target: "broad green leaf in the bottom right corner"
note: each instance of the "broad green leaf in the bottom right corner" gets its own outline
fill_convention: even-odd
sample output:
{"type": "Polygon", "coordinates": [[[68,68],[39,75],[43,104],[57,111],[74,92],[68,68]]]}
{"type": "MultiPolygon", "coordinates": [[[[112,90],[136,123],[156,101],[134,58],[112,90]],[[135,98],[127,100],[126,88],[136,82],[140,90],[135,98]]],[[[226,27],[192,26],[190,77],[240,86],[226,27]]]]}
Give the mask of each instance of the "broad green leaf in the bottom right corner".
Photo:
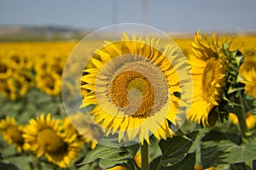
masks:
{"type": "Polygon", "coordinates": [[[236,145],[230,140],[207,141],[201,145],[203,168],[216,167],[220,164],[234,164],[256,159],[256,140],[250,144],[236,145]]]}

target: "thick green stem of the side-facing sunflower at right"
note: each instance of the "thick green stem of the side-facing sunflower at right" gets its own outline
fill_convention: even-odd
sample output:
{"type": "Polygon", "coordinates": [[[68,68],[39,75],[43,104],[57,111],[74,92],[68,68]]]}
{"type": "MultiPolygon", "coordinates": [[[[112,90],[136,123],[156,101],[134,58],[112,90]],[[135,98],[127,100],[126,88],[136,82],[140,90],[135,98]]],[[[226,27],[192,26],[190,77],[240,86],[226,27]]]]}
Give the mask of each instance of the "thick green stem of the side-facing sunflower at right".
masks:
{"type": "Polygon", "coordinates": [[[243,137],[243,142],[247,143],[248,142],[247,140],[249,139],[250,135],[247,127],[246,114],[244,111],[244,105],[243,105],[243,100],[241,95],[239,95],[239,97],[236,98],[236,103],[240,105],[240,106],[237,106],[236,116],[238,118],[241,136],[243,137]]]}

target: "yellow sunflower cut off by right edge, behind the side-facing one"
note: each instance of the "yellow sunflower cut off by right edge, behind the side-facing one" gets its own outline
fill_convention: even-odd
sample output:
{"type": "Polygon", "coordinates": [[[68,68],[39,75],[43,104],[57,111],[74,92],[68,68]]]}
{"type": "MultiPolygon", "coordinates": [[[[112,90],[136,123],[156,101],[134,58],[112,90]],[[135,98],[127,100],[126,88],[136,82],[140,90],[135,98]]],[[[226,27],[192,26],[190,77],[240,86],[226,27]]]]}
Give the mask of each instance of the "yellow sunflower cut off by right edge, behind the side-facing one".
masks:
{"type": "Polygon", "coordinates": [[[247,71],[241,71],[242,82],[245,83],[245,91],[256,99],[256,68],[252,67],[247,71]]]}

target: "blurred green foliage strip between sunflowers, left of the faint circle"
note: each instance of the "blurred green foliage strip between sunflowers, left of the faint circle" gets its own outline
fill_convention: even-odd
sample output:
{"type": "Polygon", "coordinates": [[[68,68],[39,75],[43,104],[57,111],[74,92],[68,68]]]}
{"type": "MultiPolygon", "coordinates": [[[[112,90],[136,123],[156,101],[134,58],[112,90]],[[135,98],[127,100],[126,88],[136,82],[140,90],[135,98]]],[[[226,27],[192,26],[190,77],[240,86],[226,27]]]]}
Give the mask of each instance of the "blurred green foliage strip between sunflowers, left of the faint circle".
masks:
{"type": "Polygon", "coordinates": [[[37,88],[30,89],[26,96],[15,101],[0,95],[0,105],[1,117],[19,117],[19,123],[27,123],[41,113],[50,112],[56,118],[66,116],[61,96],[49,96],[37,88]]]}

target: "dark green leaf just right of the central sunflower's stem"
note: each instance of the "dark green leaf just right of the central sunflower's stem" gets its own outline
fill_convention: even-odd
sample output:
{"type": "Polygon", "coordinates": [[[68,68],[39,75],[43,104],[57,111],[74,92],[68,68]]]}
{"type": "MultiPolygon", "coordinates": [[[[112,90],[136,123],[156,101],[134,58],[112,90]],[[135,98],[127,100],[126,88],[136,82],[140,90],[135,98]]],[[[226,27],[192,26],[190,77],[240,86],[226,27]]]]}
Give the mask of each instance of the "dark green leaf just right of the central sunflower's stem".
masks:
{"type": "MultiPolygon", "coordinates": [[[[190,133],[188,137],[195,139],[198,132],[190,133]]],[[[193,142],[189,139],[184,139],[180,136],[175,136],[172,139],[166,139],[160,141],[160,149],[163,153],[161,165],[164,167],[171,166],[187,155],[193,142]]]]}

